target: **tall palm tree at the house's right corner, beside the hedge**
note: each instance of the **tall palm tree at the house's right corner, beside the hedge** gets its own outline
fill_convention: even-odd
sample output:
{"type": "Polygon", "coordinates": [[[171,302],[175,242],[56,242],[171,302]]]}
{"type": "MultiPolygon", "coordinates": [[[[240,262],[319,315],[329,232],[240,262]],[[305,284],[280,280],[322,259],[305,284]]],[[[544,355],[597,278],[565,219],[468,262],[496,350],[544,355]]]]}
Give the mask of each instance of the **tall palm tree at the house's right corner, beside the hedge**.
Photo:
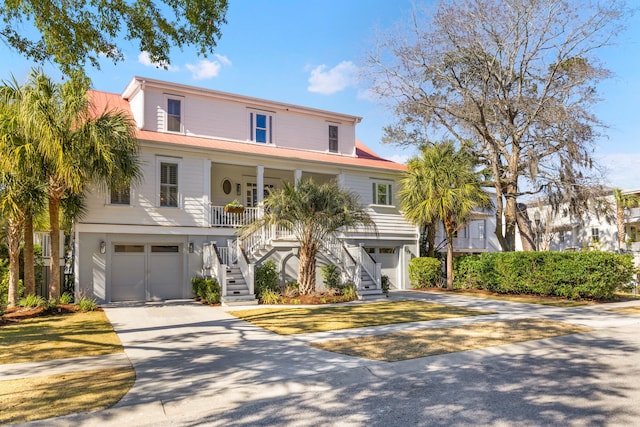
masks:
{"type": "Polygon", "coordinates": [[[453,236],[474,209],[490,205],[481,188],[482,174],[474,159],[453,143],[421,149],[421,156],[407,163],[399,196],[405,218],[416,223],[442,221],[447,239],[447,287],[453,287],[453,236]]]}

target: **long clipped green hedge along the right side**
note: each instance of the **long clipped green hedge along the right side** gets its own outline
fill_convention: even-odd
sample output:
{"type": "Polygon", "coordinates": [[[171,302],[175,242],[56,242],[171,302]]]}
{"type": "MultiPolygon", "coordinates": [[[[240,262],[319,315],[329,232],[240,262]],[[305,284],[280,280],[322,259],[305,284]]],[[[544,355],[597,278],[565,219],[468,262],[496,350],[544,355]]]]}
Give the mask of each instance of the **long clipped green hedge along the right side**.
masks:
{"type": "Polygon", "coordinates": [[[631,255],[611,252],[497,252],[459,257],[456,288],[604,300],[629,282],[631,255]]]}

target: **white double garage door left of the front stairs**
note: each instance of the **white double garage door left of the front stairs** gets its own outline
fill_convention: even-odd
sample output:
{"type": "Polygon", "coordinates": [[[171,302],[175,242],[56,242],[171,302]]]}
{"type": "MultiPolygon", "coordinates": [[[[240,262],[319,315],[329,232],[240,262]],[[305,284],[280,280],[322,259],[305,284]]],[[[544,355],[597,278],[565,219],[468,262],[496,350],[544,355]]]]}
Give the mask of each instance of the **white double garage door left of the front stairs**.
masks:
{"type": "Polygon", "coordinates": [[[114,244],[111,301],[182,298],[182,246],[114,244]]]}

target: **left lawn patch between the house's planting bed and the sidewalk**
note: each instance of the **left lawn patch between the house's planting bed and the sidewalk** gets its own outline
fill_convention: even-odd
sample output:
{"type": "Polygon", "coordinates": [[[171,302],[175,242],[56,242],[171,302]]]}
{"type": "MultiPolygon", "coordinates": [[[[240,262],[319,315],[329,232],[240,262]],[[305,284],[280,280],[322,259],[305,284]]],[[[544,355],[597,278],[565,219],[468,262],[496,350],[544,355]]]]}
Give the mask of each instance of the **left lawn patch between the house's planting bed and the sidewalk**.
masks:
{"type": "Polygon", "coordinates": [[[122,352],[102,311],[42,316],[0,327],[0,364],[122,352]]]}

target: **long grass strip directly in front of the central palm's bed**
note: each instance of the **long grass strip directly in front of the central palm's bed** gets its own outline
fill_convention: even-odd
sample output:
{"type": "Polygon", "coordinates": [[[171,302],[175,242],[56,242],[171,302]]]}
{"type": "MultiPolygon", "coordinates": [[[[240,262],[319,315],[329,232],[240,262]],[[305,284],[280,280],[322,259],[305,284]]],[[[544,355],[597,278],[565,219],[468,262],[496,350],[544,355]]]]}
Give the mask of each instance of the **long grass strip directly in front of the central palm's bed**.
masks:
{"type": "Polygon", "coordinates": [[[425,301],[385,301],[305,308],[264,308],[230,314],[280,335],[363,328],[492,314],[425,301]]]}

